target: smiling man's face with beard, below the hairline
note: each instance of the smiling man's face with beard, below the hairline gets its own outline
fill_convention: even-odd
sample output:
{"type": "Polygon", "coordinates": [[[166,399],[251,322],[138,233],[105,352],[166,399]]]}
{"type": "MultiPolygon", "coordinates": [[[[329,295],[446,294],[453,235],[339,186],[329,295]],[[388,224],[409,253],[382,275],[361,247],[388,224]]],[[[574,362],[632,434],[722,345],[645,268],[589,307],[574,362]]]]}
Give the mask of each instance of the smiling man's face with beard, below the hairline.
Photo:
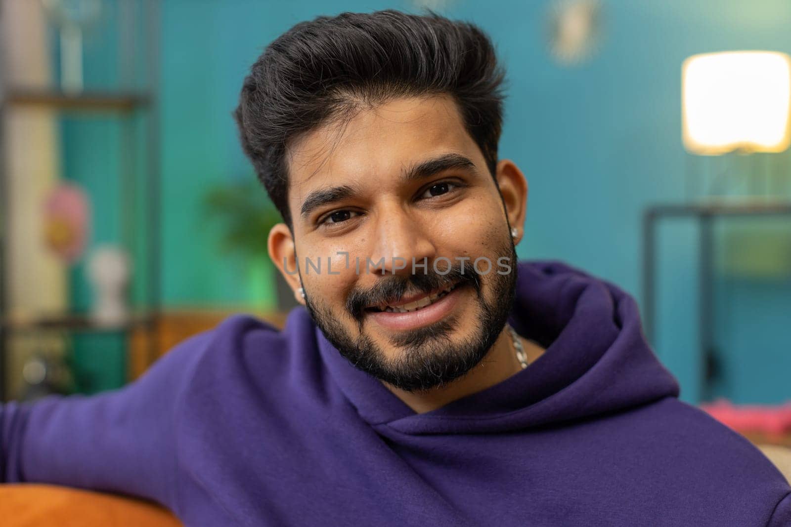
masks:
{"type": "Polygon", "coordinates": [[[475,367],[513,304],[517,257],[452,99],[392,100],[312,130],[287,163],[299,278],[327,340],[401,390],[475,367]]]}

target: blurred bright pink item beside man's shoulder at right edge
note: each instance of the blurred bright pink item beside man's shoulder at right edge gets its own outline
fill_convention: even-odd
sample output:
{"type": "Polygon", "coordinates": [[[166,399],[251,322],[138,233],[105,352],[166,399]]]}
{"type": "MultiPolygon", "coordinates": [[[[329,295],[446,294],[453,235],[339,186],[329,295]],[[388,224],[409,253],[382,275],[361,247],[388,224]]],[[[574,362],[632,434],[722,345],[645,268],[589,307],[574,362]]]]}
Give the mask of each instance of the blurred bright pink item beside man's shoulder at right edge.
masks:
{"type": "Polygon", "coordinates": [[[700,405],[714,419],[737,432],[762,432],[781,439],[791,432],[791,402],[784,405],[732,405],[725,399],[700,405]]]}

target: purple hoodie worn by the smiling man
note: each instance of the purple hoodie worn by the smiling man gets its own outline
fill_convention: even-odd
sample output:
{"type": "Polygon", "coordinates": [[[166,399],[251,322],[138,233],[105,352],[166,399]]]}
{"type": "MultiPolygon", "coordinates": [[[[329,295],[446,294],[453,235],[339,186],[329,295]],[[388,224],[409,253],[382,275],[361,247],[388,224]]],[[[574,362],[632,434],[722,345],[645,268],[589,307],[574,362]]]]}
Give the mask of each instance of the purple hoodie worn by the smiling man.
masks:
{"type": "Polygon", "coordinates": [[[511,323],[547,351],[416,414],[303,308],[246,315],[137,382],[0,410],[0,475],[152,499],[186,525],[791,525],[791,488],[680,402],[634,299],[519,265],[511,323]]]}

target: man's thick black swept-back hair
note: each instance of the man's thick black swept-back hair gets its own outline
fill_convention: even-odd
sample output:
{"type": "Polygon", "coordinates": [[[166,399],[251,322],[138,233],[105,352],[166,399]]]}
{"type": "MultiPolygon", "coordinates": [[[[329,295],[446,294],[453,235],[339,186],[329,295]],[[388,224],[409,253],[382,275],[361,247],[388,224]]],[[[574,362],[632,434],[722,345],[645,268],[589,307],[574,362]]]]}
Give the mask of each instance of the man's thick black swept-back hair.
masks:
{"type": "Polygon", "coordinates": [[[398,97],[452,96],[494,177],[504,77],[489,37],[473,24],[432,12],[341,13],[274,40],[245,77],[233,115],[244,153],[291,227],[286,148],[398,97]]]}

